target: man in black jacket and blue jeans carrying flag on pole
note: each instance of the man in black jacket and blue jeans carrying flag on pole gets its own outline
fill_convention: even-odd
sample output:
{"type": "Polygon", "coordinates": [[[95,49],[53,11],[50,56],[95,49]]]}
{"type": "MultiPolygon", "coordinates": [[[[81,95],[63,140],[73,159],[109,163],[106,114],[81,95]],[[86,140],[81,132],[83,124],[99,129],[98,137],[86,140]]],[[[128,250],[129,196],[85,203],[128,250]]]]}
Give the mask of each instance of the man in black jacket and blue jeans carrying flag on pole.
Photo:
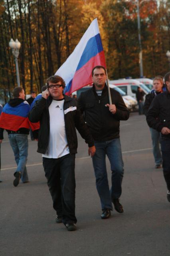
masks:
{"type": "Polygon", "coordinates": [[[119,202],[124,173],[119,125],[120,120],[128,119],[129,112],[121,95],[114,89],[110,89],[113,104],[109,104],[105,67],[94,67],[92,77],[93,87],[81,93],[78,103],[95,140],[96,153],[92,158],[93,167],[103,211],[101,218],[106,219],[111,215],[112,202],[115,210],[123,213],[123,206],[119,202]],[[107,178],[106,155],[111,163],[111,190],[107,178]]]}

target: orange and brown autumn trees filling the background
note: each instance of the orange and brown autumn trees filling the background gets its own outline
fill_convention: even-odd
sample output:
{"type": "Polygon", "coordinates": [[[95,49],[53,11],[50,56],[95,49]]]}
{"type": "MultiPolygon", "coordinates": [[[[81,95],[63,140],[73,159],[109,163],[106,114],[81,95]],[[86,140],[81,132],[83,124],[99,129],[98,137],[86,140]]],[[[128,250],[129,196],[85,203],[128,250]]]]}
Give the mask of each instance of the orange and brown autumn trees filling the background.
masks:
{"type": "MultiPolygon", "coordinates": [[[[139,10],[144,75],[164,75],[169,71],[170,2],[140,0],[139,10]]],[[[21,42],[22,87],[26,93],[40,92],[96,17],[109,78],[139,77],[137,0],[0,0],[0,89],[16,86],[10,38],[21,42]]]]}

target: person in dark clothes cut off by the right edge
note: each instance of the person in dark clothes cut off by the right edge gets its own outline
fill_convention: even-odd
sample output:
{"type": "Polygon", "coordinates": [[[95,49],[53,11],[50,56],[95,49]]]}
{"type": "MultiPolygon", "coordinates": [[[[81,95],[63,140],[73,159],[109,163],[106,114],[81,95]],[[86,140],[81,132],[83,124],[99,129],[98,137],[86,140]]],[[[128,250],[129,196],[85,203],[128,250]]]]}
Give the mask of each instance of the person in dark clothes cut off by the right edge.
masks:
{"type": "Polygon", "coordinates": [[[154,97],[146,121],[150,127],[161,132],[162,167],[170,202],[170,72],[166,73],[164,81],[167,91],[154,97]]]}

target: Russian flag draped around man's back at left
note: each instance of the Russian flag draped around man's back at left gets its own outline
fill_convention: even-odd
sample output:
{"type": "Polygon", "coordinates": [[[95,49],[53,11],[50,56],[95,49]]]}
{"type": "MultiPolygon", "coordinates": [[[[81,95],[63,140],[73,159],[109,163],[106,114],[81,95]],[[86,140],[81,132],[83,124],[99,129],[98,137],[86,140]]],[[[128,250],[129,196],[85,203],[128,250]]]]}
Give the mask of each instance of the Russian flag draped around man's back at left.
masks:
{"type": "Polygon", "coordinates": [[[31,123],[28,119],[30,105],[24,101],[16,107],[11,107],[8,103],[2,109],[0,115],[0,127],[10,131],[18,131],[20,128],[39,129],[39,123],[31,123]]]}

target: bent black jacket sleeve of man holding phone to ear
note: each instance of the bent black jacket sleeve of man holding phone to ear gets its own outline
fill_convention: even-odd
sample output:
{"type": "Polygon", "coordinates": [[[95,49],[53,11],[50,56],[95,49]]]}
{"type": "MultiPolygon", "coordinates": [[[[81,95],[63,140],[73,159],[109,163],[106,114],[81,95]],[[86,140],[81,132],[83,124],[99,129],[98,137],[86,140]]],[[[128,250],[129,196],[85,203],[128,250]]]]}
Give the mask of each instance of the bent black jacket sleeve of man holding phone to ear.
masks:
{"type": "Polygon", "coordinates": [[[37,123],[42,118],[43,111],[46,106],[46,99],[43,97],[36,101],[34,107],[30,110],[30,113],[28,115],[29,120],[32,123],[37,123]]]}

